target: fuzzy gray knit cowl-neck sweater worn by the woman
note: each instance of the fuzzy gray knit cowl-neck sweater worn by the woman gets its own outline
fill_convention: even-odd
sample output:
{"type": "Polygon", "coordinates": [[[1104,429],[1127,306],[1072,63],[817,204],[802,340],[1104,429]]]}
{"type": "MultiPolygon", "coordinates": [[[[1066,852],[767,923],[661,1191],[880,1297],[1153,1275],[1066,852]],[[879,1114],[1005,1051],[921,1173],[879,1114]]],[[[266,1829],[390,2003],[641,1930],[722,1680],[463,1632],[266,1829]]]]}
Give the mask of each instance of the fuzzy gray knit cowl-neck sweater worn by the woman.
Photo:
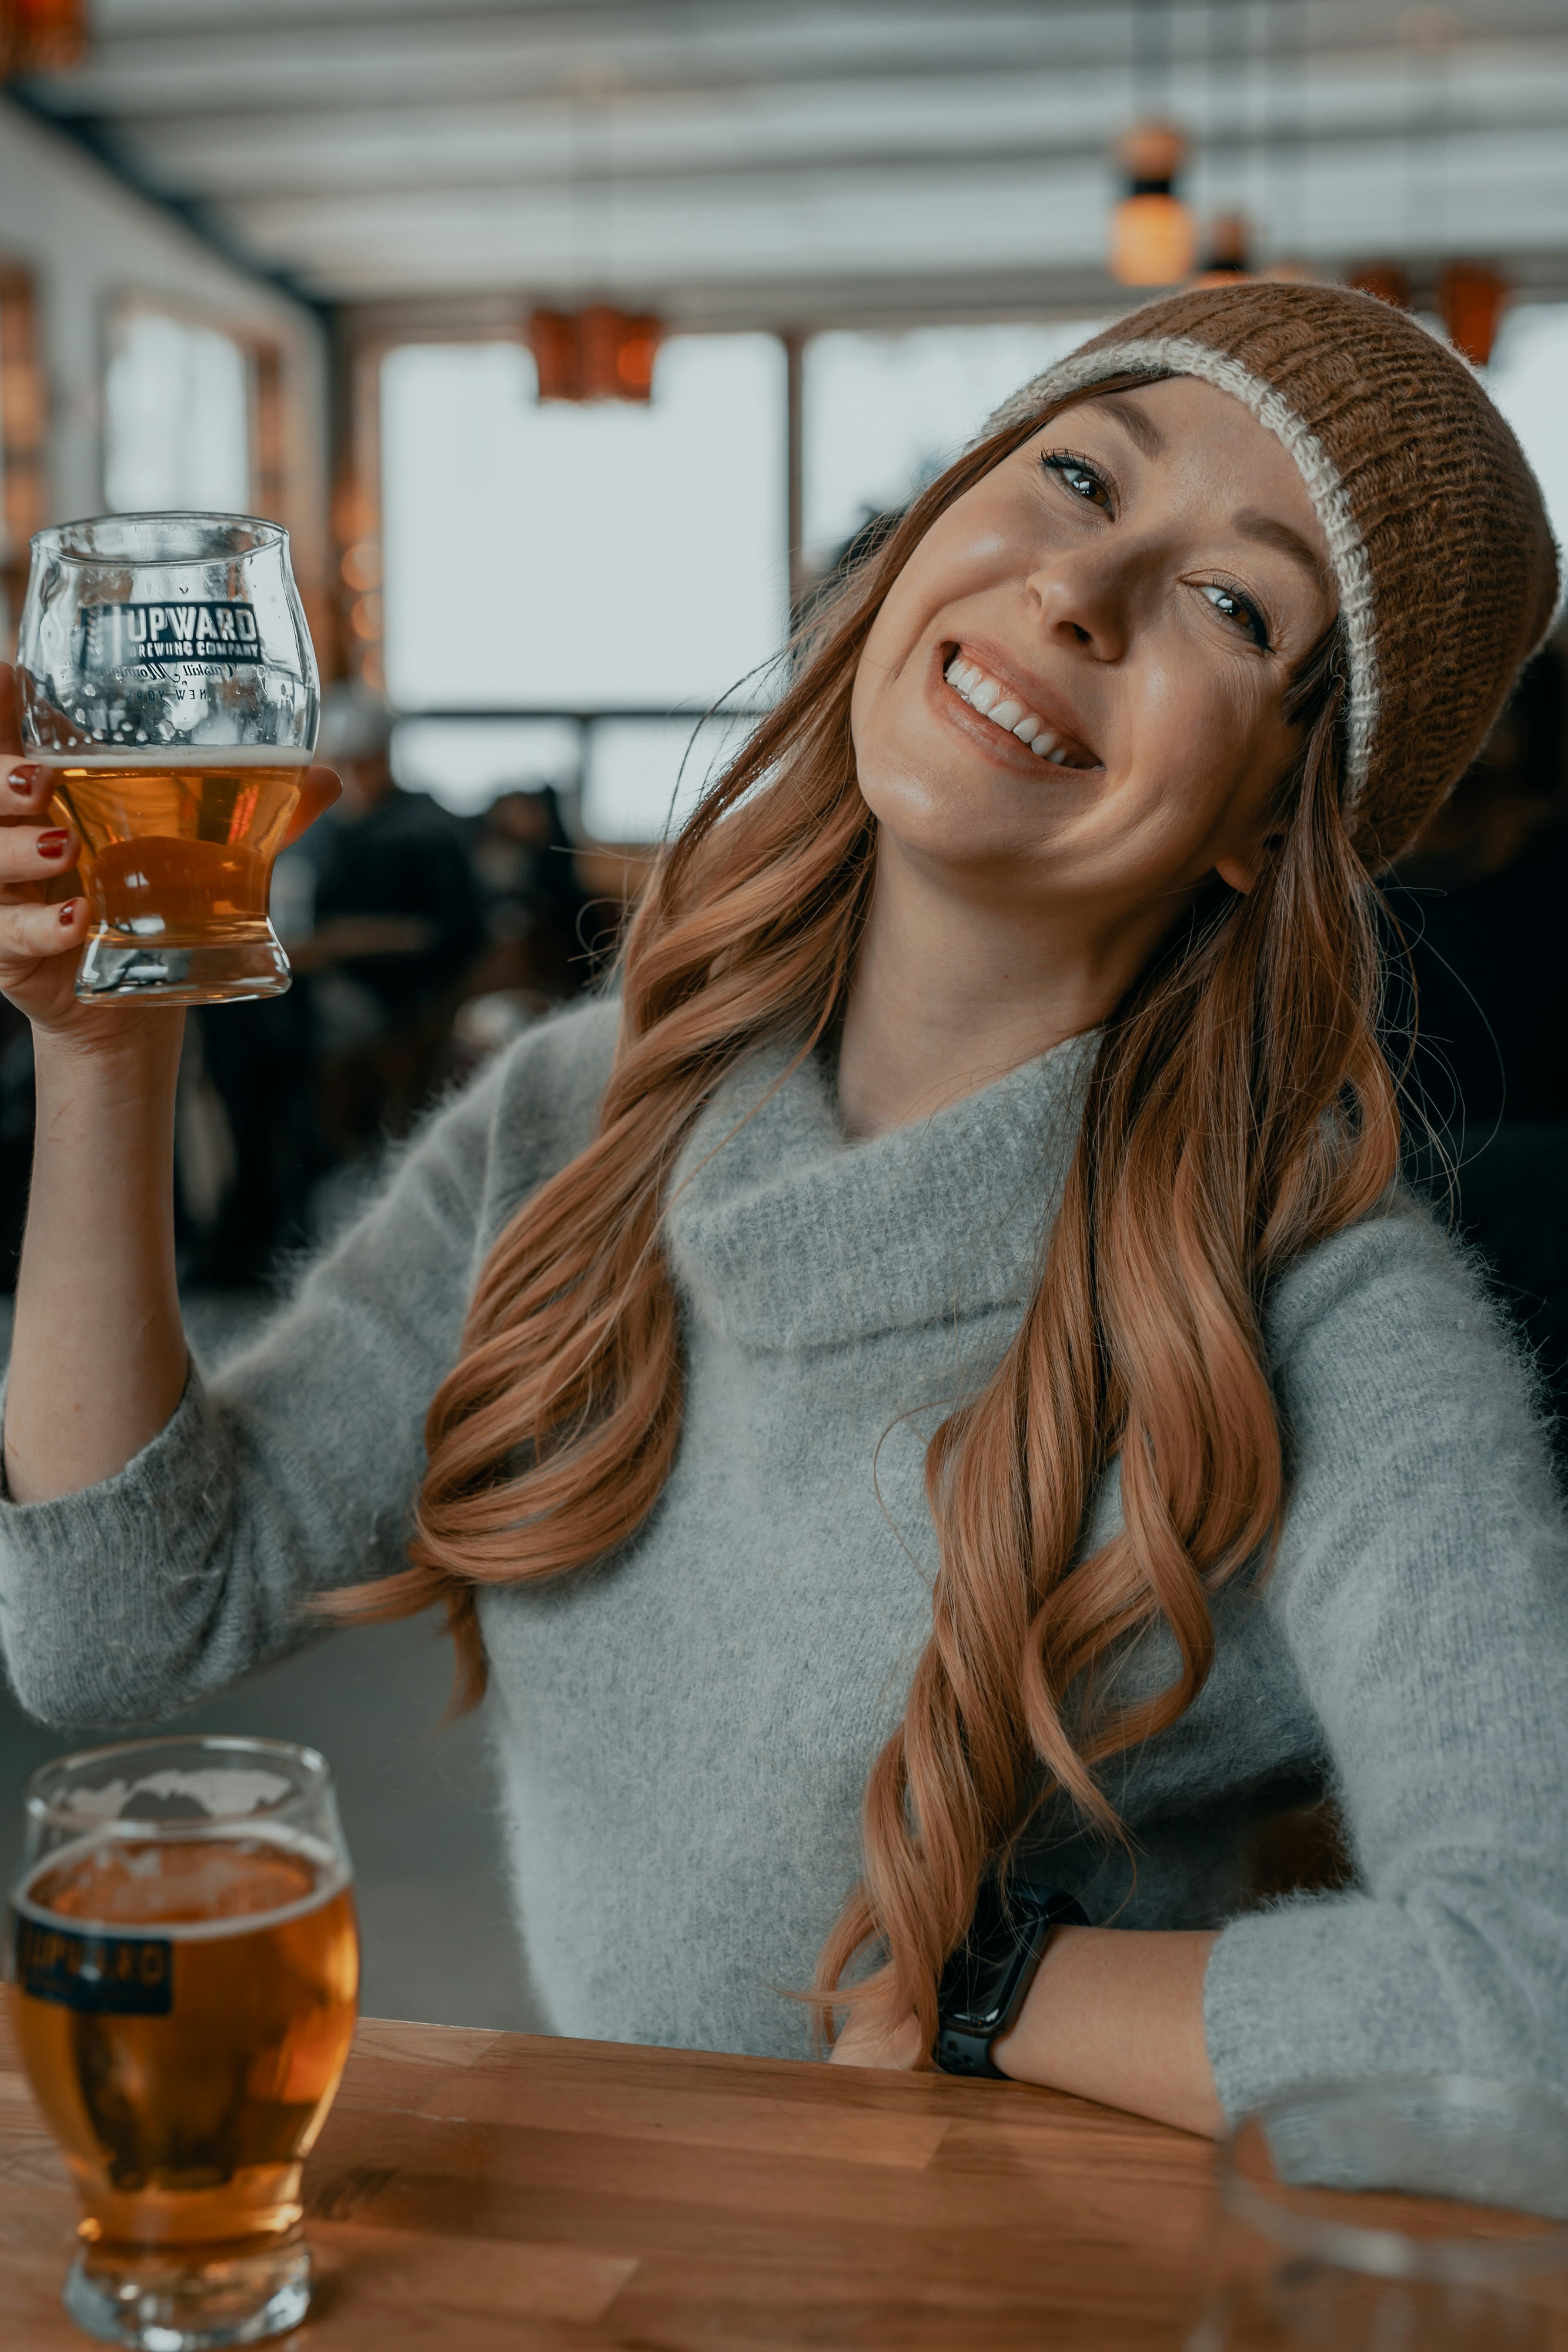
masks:
{"type": "MultiPolygon", "coordinates": [[[[614,1018],[498,1058],[127,1470],[0,1510],[24,1705],[148,1719],[296,1642],[301,1595],[397,1566],[475,1270],[588,1141],[614,1018]]],[[[668,1218],[670,1484],[618,1557],[482,1599],[517,1910],[562,2032],[806,2053],[788,1987],[856,1877],[929,1630],[924,1439],[1016,1329],[1088,1051],[856,1145],[818,1065],[766,1096],[783,1056],[703,1115],[668,1218]]],[[[1229,1922],[1206,1987],[1229,2112],[1382,2067],[1568,2089],[1568,1573],[1526,1385],[1410,1207],[1300,1261],[1269,1345],[1293,1458],[1272,1573],[1218,1604],[1201,1698],[1117,1769],[1135,1870],[1060,1818],[1039,1867],[1100,1922],[1229,1922]],[[1324,1783],[1356,1884],[1246,1912],[1258,1806],[1324,1783]]],[[[1114,1512],[1112,1479],[1098,1534],[1114,1512]]],[[[1126,1691],[1171,1663],[1145,1637],[1126,1691]]]]}

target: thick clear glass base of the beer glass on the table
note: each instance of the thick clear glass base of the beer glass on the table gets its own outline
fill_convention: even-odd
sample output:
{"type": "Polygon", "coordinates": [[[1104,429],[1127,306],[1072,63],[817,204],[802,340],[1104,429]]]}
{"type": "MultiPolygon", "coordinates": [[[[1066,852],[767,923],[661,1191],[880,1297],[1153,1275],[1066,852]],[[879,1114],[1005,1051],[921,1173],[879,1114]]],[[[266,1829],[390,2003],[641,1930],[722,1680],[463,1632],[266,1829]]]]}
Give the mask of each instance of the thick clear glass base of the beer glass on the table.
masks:
{"type": "Polygon", "coordinates": [[[310,2307],[310,2253],[292,2232],[256,2251],[87,2246],[66,2277],[66,2310],[99,2343],[132,2352],[221,2352],[287,2336],[310,2307]]]}

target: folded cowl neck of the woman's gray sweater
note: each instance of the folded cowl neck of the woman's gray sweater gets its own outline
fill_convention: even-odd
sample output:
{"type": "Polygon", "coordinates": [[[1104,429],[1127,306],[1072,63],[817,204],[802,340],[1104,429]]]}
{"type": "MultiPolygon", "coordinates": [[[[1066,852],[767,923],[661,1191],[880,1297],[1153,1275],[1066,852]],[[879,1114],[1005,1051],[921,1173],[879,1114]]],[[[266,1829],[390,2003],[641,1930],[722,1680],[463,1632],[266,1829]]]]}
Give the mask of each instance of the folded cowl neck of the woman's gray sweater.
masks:
{"type": "Polygon", "coordinates": [[[665,1247],[743,1348],[823,1348],[1016,1305],[1060,1204],[1098,1030],[926,1120],[853,1141],[837,1063],[769,1047],[719,1084],[675,1169],[665,1247]]]}

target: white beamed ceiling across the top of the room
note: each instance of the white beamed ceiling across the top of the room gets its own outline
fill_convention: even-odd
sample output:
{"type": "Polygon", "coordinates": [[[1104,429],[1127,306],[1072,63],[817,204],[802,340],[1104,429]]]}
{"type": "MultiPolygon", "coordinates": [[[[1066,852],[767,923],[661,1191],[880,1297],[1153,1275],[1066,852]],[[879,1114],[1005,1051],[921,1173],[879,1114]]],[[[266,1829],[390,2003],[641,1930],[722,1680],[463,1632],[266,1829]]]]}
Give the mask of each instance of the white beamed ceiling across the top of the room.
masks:
{"type": "Polygon", "coordinates": [[[317,301],[689,322],[1110,301],[1107,146],[1319,266],[1568,292],[1568,0],[96,0],[24,87],[317,301]]]}

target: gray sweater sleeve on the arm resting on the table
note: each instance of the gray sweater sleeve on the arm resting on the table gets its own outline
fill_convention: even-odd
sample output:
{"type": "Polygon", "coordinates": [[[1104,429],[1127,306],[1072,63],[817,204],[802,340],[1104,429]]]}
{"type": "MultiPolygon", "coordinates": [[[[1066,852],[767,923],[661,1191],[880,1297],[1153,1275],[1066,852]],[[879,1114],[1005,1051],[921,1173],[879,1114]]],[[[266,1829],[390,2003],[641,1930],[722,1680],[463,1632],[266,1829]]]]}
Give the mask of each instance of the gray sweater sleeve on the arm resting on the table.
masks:
{"type": "Polygon", "coordinates": [[[1410,1209],[1305,1258],[1272,1338],[1293,1486],[1260,1606],[1324,1729],[1356,1879],[1220,1933],[1220,2100],[1394,2070],[1563,2091],[1568,1548],[1528,1378],[1410,1209]]]}

